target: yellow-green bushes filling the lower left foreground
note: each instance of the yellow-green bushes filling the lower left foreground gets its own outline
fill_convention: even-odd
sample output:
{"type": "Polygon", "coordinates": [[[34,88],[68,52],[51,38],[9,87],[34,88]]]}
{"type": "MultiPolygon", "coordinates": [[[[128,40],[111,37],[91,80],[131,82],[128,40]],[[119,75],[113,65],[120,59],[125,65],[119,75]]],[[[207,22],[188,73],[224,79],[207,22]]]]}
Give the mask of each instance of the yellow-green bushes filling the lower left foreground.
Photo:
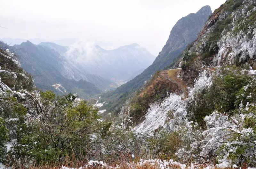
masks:
{"type": "Polygon", "coordinates": [[[104,138],[111,123],[99,122],[98,109],[85,101],[75,103],[75,99],[76,95],[56,98],[51,91],[41,92],[40,98],[36,98],[40,109],[35,117],[31,116],[34,113],[27,114],[39,107],[35,100],[29,103],[28,109],[15,97],[4,100],[1,116],[8,121],[6,127],[13,140],[5,163],[38,165],[61,162],[65,157],[85,158],[90,154],[94,133],[101,133],[100,138],[104,138]]]}

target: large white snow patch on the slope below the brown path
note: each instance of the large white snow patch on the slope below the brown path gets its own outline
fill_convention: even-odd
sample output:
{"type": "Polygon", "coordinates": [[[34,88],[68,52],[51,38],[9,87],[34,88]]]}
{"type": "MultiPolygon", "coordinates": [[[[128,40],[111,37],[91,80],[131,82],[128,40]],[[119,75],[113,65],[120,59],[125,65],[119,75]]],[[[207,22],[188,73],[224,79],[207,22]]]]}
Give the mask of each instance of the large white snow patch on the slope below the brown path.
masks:
{"type": "Polygon", "coordinates": [[[177,130],[179,128],[177,126],[188,123],[186,118],[187,104],[194,98],[197,91],[209,88],[212,85],[211,75],[207,69],[204,69],[195,79],[195,85],[190,89],[189,97],[185,100],[182,99],[182,95],[170,94],[162,103],[155,102],[151,104],[145,120],[132,130],[139,133],[152,133],[161,126],[169,130],[177,130]],[[173,114],[172,119],[168,119],[168,113],[173,114]]]}

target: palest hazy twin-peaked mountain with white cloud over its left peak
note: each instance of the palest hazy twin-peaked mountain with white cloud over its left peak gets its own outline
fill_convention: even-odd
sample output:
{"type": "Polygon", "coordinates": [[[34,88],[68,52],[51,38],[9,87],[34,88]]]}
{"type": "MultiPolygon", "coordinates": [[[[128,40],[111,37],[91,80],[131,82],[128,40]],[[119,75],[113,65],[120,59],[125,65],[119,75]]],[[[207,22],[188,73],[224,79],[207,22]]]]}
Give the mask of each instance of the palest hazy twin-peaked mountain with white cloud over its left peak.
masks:
{"type": "MultiPolygon", "coordinates": [[[[89,42],[79,42],[66,52],[70,64],[88,74],[125,81],[142,68],[148,67],[155,57],[134,43],[113,50],[105,50],[89,42]]],[[[136,74],[137,75],[137,74],[136,74]]]]}

